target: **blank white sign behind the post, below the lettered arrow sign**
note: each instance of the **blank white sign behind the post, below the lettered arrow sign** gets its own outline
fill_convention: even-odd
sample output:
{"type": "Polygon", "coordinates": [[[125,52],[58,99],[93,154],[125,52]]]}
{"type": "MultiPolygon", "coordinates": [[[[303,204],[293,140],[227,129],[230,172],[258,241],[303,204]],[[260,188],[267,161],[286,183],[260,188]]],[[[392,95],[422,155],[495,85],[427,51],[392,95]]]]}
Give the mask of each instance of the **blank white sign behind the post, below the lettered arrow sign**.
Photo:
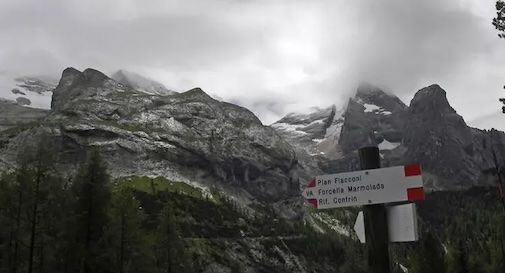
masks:
{"type": "MultiPolygon", "coordinates": [[[[412,242],[419,239],[417,213],[414,203],[386,207],[390,242],[412,242]]],[[[365,243],[363,212],[358,213],[354,231],[361,243],[365,243]]]]}

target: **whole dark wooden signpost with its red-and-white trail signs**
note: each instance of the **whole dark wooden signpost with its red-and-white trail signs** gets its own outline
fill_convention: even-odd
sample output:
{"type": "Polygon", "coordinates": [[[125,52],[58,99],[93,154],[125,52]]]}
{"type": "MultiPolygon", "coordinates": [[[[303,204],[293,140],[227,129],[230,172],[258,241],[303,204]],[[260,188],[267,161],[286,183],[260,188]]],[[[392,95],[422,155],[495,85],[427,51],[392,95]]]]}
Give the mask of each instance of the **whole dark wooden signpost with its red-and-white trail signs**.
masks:
{"type": "Polygon", "coordinates": [[[389,242],[418,239],[415,206],[408,202],[425,198],[421,166],[380,168],[377,147],[361,148],[359,157],[361,171],[316,176],[303,196],[317,209],[364,206],[354,229],[366,242],[372,272],[389,273],[389,242]],[[384,206],[398,202],[404,204],[384,206]]]}

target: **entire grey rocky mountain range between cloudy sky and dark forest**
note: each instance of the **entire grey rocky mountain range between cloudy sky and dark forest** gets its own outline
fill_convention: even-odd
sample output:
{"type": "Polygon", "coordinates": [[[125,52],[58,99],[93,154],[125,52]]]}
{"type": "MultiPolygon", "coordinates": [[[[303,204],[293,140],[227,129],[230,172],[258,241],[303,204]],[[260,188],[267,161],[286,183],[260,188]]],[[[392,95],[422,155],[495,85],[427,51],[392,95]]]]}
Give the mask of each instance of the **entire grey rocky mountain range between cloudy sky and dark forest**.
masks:
{"type": "Polygon", "coordinates": [[[356,151],[366,145],[379,146],[383,166],[422,163],[434,189],[489,183],[487,173],[494,166],[490,148],[505,145],[501,132],[468,127],[438,85],[421,89],[407,106],[363,84],[345,108],[290,114],[271,127],[199,88],[151,93],[94,69],[67,68],[48,92],[53,94],[50,112],[4,107],[5,113],[24,114],[16,122],[5,114],[2,129],[19,122],[40,124],[2,136],[3,169],[15,165],[23,142],[49,134],[66,164],[77,164],[90,147],[99,146],[117,176],[214,181],[209,185],[245,188],[249,199],[281,200],[297,196],[298,183],[312,175],[357,169],[356,151]]]}

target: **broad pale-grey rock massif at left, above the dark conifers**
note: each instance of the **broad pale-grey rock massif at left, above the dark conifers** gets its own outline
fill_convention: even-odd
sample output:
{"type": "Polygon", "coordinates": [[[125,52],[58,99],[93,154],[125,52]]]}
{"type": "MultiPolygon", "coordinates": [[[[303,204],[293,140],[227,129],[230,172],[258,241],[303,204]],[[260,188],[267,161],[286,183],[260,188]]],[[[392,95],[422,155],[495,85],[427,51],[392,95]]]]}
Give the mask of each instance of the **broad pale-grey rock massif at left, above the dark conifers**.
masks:
{"type": "Polygon", "coordinates": [[[249,110],[214,100],[200,88],[146,94],[94,69],[67,68],[51,106],[40,126],[0,147],[3,162],[13,163],[21,142],[44,132],[67,168],[98,146],[115,176],[224,185],[264,201],[298,195],[292,147],[249,110]]]}

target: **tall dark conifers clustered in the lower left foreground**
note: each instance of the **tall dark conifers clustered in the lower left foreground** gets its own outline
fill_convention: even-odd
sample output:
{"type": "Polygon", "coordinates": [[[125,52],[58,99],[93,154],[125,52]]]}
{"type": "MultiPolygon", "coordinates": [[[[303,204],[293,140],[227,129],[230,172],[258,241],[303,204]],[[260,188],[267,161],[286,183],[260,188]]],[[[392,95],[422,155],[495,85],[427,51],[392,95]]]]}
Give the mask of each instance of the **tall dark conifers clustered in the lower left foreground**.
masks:
{"type": "Polygon", "coordinates": [[[113,188],[97,149],[60,175],[48,145],[0,177],[0,272],[192,272],[170,202],[154,229],[129,188],[113,188]]]}

